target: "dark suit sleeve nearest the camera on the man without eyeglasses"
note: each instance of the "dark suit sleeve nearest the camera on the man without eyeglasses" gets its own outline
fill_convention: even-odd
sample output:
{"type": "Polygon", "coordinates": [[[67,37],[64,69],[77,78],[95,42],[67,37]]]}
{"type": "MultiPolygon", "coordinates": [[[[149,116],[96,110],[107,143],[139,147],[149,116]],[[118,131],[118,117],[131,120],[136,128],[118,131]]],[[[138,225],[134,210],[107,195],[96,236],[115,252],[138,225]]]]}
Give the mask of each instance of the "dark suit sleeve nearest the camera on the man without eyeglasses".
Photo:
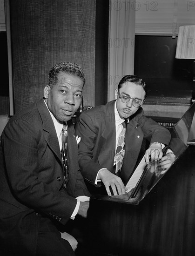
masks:
{"type": "Polygon", "coordinates": [[[65,224],[77,200],[61,189],[55,175],[60,164],[55,170],[55,156],[48,147],[41,148],[39,133],[30,121],[8,123],[2,135],[8,180],[19,202],[65,224]]]}

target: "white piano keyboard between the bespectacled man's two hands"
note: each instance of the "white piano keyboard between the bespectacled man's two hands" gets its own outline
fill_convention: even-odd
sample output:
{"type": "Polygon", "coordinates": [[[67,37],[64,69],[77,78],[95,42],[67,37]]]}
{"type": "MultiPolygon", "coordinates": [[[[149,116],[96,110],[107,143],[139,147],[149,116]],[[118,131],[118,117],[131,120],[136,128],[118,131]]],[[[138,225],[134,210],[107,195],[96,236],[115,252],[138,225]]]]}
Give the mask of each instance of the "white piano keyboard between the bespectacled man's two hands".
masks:
{"type": "Polygon", "coordinates": [[[131,191],[131,189],[134,189],[137,182],[139,182],[141,175],[144,171],[144,168],[146,167],[147,163],[145,162],[145,158],[143,156],[143,158],[141,159],[140,163],[138,164],[137,168],[134,170],[133,175],[131,176],[131,178],[129,179],[126,188],[128,189],[126,191],[126,193],[128,193],[129,191],[131,191]]]}

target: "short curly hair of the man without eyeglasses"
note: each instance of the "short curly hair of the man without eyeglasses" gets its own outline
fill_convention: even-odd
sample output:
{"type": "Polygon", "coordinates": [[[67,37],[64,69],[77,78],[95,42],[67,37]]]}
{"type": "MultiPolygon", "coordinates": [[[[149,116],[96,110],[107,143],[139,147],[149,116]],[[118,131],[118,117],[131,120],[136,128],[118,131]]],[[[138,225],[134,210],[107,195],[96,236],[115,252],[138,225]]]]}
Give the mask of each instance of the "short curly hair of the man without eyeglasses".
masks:
{"type": "Polygon", "coordinates": [[[78,76],[83,81],[83,85],[85,84],[84,72],[80,65],[75,64],[73,62],[60,62],[55,64],[55,66],[49,70],[50,87],[53,87],[57,83],[58,74],[60,72],[78,76]]]}

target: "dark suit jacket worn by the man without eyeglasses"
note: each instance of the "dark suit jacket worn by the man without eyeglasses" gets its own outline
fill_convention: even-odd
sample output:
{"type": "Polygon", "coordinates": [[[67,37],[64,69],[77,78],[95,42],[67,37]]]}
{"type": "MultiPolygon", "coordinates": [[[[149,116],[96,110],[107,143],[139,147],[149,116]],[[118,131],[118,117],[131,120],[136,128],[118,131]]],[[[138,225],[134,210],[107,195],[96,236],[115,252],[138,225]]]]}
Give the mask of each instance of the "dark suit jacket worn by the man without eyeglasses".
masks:
{"type": "Polygon", "coordinates": [[[2,133],[0,238],[34,255],[40,214],[66,224],[79,195],[89,195],[77,163],[74,127],[68,123],[69,178],[64,189],[61,152],[44,100],[14,115],[2,133]],[[36,214],[35,214],[36,213],[36,214]]]}

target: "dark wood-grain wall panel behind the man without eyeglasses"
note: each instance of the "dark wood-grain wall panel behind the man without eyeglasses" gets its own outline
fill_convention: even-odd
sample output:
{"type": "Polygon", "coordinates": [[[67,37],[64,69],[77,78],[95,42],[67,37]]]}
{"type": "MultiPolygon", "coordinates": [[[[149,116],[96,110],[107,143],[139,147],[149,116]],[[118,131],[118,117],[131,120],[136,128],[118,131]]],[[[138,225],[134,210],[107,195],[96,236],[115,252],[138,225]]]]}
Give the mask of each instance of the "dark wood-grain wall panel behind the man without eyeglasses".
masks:
{"type": "Polygon", "coordinates": [[[94,106],[95,0],[10,0],[10,14],[15,113],[43,96],[61,61],[81,65],[83,101],[94,106]]]}

